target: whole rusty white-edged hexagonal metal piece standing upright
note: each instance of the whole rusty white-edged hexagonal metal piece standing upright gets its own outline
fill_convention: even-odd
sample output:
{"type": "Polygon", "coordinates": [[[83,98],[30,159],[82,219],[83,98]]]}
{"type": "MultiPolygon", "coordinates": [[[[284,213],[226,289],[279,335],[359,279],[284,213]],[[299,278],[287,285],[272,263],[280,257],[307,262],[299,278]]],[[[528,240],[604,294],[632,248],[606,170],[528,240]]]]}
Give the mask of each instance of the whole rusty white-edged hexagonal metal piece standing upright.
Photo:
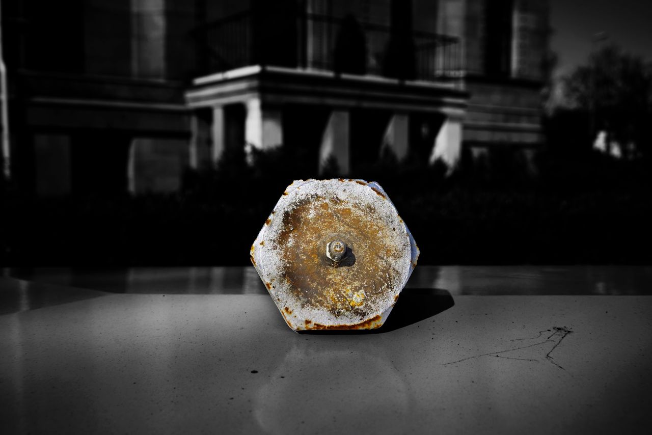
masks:
{"type": "Polygon", "coordinates": [[[250,256],[292,329],[375,329],[419,248],[377,183],[302,180],[283,192],[250,256]]]}

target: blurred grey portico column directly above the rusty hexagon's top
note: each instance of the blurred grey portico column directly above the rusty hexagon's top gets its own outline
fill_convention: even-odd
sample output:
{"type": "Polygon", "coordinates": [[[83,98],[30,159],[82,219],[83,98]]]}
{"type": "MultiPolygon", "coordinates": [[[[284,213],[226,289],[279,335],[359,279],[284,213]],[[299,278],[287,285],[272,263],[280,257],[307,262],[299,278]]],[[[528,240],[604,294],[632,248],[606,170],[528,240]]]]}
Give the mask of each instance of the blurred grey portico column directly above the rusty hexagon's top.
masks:
{"type": "Polygon", "coordinates": [[[349,132],[350,114],[346,110],[333,110],[319,147],[319,173],[328,168],[331,161],[336,162],[341,175],[349,173],[349,132]]]}

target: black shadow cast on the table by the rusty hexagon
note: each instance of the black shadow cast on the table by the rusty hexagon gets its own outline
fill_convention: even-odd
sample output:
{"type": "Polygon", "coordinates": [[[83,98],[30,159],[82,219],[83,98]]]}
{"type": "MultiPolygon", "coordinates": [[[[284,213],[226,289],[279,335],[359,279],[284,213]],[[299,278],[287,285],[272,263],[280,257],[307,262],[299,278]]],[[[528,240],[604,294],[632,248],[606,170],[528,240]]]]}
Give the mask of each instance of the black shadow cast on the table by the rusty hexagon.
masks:
{"type": "Polygon", "coordinates": [[[378,329],[353,329],[351,331],[299,331],[306,335],[361,335],[383,334],[421,322],[452,308],[455,302],[448,290],[439,288],[406,288],[385,324],[378,329]]]}

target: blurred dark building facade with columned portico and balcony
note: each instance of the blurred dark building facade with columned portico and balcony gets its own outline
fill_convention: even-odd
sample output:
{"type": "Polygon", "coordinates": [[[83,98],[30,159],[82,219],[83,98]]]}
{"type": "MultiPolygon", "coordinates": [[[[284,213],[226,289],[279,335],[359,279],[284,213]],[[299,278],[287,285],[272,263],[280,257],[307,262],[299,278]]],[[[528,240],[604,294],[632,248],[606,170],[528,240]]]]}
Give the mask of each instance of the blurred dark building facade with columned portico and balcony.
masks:
{"type": "Polygon", "coordinates": [[[542,142],[548,0],[11,0],[12,176],[172,192],[229,149],[340,173],[542,142]]]}

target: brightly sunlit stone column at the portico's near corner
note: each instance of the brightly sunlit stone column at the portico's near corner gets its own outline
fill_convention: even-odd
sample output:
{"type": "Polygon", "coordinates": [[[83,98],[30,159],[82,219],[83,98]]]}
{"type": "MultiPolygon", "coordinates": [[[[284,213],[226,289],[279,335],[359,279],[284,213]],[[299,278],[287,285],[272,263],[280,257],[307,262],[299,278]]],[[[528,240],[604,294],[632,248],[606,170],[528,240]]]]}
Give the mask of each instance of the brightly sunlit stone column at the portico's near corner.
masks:
{"type": "Polygon", "coordinates": [[[283,145],[283,115],[280,110],[263,108],[260,98],[246,102],[244,139],[249,146],[269,149],[283,145]]]}

